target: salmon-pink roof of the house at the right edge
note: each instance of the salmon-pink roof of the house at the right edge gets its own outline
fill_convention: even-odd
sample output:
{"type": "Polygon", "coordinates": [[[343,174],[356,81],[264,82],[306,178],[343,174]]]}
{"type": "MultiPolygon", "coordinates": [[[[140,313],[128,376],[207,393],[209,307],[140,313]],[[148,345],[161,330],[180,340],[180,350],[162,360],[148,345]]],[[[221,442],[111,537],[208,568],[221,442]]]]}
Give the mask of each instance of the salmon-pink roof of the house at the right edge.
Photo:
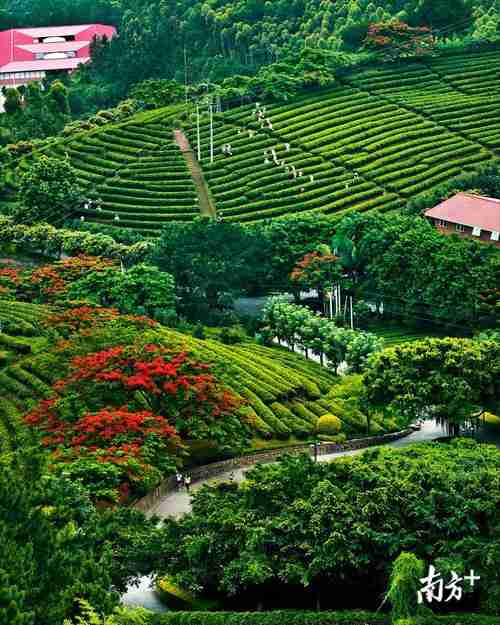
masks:
{"type": "Polygon", "coordinates": [[[457,193],[434,208],[426,210],[425,215],[453,224],[500,232],[500,200],[496,198],[457,193]]]}

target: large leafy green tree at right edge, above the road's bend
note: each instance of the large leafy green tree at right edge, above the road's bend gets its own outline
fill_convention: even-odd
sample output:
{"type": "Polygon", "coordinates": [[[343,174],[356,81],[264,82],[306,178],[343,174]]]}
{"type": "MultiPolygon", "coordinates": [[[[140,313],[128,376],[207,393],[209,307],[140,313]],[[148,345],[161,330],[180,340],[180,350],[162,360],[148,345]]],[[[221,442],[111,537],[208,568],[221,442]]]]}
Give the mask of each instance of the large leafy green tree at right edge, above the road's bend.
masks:
{"type": "Polygon", "coordinates": [[[500,344],[447,338],[385,349],[373,358],[365,386],[371,404],[435,416],[457,432],[474,413],[498,408],[500,344]]]}

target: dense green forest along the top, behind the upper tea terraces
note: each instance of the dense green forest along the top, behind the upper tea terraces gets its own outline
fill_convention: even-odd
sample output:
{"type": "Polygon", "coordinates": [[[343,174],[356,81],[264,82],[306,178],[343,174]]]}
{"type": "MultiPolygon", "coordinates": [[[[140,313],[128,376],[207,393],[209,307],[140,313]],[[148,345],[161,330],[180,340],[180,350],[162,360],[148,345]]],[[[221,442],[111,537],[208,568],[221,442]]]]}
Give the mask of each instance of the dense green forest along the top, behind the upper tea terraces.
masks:
{"type": "Polygon", "coordinates": [[[253,73],[304,47],[357,53],[370,24],[398,20],[437,38],[495,39],[498,0],[0,0],[0,28],[104,22],[119,37],[95,51],[93,79],[123,96],[134,82],[190,83],[253,73]]]}

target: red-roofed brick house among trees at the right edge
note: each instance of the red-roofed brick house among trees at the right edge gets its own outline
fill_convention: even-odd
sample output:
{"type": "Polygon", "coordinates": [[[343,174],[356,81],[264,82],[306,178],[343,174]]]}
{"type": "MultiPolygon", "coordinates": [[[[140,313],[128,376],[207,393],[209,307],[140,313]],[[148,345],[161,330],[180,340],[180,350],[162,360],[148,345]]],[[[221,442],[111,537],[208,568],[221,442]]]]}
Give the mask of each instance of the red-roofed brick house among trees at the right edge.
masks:
{"type": "Polygon", "coordinates": [[[424,214],[443,234],[457,234],[500,247],[500,200],[496,198],[457,193],[424,214]]]}

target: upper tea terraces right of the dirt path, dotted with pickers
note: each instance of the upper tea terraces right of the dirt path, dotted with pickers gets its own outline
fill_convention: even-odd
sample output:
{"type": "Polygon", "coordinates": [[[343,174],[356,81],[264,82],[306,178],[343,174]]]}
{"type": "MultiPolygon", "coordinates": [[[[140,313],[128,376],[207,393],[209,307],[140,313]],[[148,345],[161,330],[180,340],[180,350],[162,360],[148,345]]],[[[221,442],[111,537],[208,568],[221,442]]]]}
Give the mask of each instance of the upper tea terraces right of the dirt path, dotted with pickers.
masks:
{"type": "Polygon", "coordinates": [[[252,222],[301,211],[388,211],[498,159],[499,70],[498,51],[372,69],[267,106],[264,122],[253,106],[218,116],[213,166],[206,124],[202,147],[219,214],[252,222]],[[232,155],[221,152],[224,144],[232,155]]]}

